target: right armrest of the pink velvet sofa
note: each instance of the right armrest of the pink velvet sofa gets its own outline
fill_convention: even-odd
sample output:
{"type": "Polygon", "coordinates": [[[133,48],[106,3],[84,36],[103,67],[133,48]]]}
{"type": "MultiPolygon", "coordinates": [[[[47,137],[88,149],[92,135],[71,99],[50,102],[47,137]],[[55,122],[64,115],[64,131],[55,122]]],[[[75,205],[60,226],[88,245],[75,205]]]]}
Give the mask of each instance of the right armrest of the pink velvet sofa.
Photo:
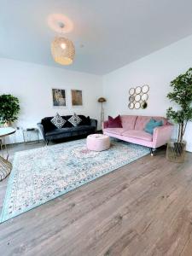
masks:
{"type": "Polygon", "coordinates": [[[172,137],[173,125],[163,125],[154,128],[153,148],[165,145],[172,137]]]}

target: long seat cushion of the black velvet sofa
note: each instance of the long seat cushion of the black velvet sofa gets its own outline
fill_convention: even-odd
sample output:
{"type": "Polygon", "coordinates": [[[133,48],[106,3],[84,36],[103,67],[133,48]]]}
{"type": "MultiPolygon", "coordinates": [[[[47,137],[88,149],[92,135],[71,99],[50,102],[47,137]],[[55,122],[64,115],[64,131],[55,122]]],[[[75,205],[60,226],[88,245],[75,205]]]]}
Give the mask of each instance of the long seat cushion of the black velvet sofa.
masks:
{"type": "Polygon", "coordinates": [[[75,126],[75,127],[67,127],[67,128],[61,128],[61,129],[55,129],[52,131],[48,131],[45,135],[46,136],[52,136],[52,135],[58,135],[61,133],[69,133],[69,132],[75,132],[75,131],[92,131],[94,130],[95,127],[94,126],[90,126],[90,125],[79,125],[79,126],[75,126]]]}

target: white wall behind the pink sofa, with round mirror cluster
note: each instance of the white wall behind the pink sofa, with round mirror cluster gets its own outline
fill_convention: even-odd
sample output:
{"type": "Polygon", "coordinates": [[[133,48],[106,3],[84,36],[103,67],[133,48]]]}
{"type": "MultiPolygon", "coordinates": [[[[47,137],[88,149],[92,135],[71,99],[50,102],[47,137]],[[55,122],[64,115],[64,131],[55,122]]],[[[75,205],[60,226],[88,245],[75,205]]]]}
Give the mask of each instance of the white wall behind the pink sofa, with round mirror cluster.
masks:
{"type": "MultiPolygon", "coordinates": [[[[119,113],[166,116],[166,109],[172,105],[166,99],[170,81],[189,67],[192,67],[192,36],[108,73],[103,77],[104,96],[108,100],[104,106],[106,116],[119,113]],[[129,109],[129,89],[143,84],[150,87],[148,108],[129,109]]],[[[187,127],[185,139],[187,149],[192,151],[192,123],[187,127]]]]}

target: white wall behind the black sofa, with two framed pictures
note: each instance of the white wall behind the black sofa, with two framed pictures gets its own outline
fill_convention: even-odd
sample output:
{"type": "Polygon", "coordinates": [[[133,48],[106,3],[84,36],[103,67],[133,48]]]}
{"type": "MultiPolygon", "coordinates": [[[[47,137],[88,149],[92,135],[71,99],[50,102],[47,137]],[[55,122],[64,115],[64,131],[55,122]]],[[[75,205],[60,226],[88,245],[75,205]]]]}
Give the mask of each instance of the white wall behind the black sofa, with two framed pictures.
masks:
{"type": "MultiPolygon", "coordinates": [[[[20,116],[15,125],[36,127],[46,116],[82,113],[100,118],[101,106],[96,101],[102,96],[102,77],[88,73],[47,67],[22,61],[0,59],[0,94],[12,94],[20,99],[20,116]],[[51,88],[67,89],[67,108],[53,108],[51,88]],[[83,90],[83,108],[73,108],[71,89],[83,90]]],[[[99,122],[98,122],[99,123],[99,122]]],[[[20,141],[17,131],[17,142],[20,141]]]]}

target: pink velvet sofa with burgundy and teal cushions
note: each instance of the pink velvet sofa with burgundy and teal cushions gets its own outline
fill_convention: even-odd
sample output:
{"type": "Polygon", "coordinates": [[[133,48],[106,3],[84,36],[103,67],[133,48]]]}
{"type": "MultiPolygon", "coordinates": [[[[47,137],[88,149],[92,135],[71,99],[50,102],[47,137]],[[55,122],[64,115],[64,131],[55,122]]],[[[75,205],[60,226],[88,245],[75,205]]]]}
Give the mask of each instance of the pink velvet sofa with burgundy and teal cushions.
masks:
{"type": "Polygon", "coordinates": [[[167,143],[172,136],[173,125],[164,117],[121,115],[123,128],[108,128],[108,121],[102,123],[103,134],[109,137],[115,137],[129,143],[136,143],[150,148],[153,155],[153,148],[159,148],[167,143]],[[162,120],[163,126],[154,128],[154,134],[151,135],[144,131],[145,125],[150,119],[162,120]]]}

